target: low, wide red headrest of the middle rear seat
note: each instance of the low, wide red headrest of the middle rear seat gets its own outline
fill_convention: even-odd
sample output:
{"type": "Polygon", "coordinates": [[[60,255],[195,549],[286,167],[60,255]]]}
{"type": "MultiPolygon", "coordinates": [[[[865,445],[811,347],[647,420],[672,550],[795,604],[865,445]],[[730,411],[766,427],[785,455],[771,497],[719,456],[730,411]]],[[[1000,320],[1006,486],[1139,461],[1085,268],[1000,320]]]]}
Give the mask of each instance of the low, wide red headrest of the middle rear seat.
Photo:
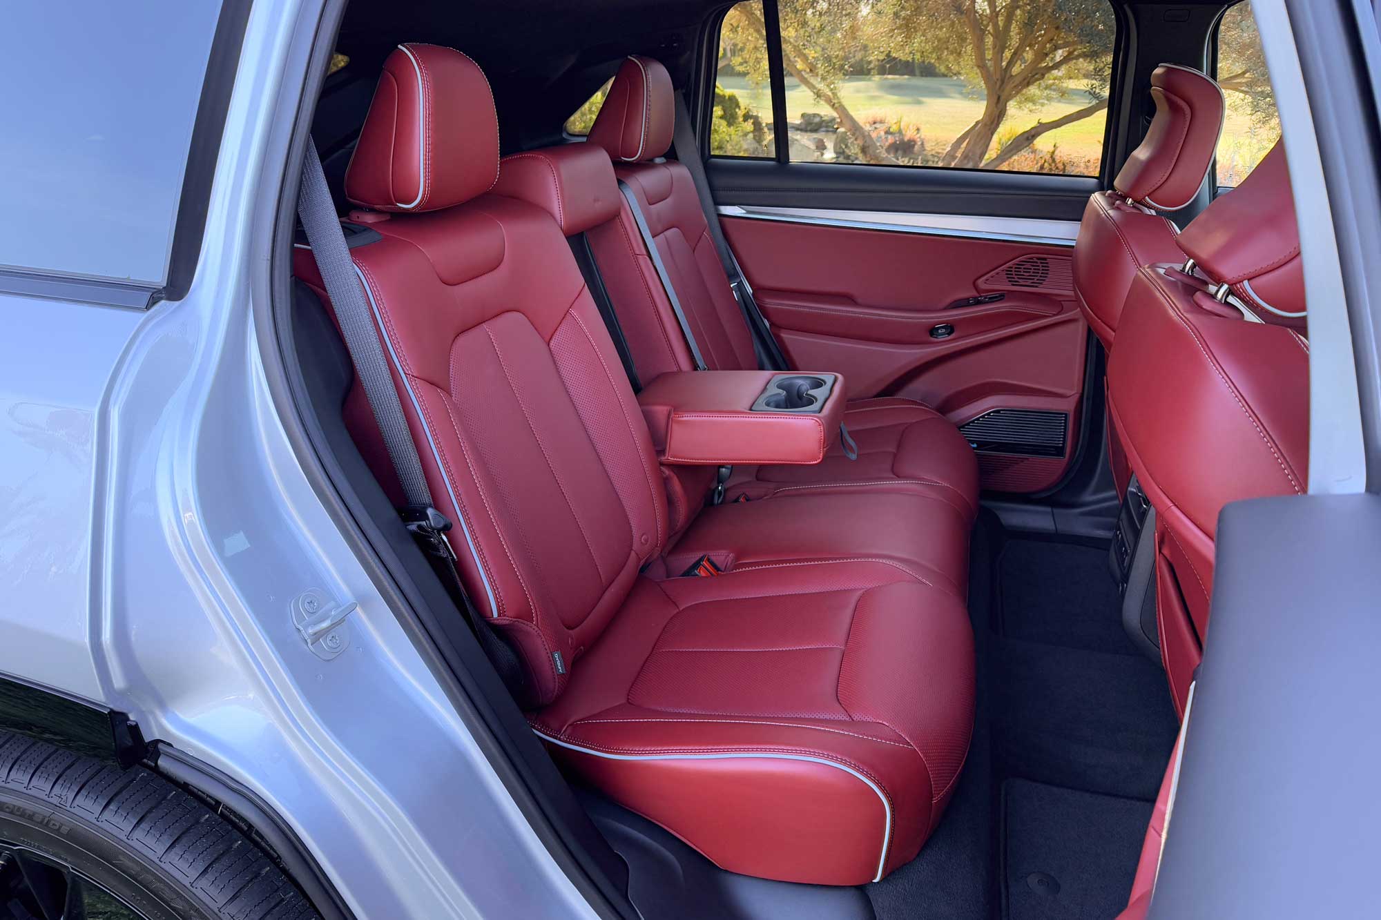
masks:
{"type": "Polygon", "coordinates": [[[566,236],[619,214],[619,180],[603,148],[566,144],[505,156],[494,192],[544,209],[566,236]]]}

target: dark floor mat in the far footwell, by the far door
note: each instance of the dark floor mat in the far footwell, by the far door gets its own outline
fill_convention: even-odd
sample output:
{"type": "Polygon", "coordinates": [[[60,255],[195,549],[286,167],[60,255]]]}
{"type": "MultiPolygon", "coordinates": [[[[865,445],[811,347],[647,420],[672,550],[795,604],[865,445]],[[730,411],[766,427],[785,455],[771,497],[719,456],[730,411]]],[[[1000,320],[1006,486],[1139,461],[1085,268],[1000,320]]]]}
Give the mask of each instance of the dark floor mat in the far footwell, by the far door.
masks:
{"type": "Polygon", "coordinates": [[[1003,633],[1008,638],[1139,653],[1121,626],[1121,595],[1108,571],[1106,548],[1010,540],[1000,573],[1003,633]]]}

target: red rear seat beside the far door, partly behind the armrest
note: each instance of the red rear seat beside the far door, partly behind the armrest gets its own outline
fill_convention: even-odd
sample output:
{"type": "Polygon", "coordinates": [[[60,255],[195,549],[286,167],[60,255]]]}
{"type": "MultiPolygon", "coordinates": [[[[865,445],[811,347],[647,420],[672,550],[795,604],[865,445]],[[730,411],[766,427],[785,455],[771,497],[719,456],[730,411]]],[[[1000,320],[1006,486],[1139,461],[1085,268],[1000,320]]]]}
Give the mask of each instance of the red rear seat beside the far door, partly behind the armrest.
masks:
{"type": "MultiPolygon", "coordinates": [[[[681,163],[663,160],[674,119],[666,68],[631,57],[615,76],[588,142],[609,152],[619,178],[637,195],[707,367],[753,369],[753,337],[710,239],[695,181],[681,163]]],[[[628,207],[620,207],[616,221],[591,228],[588,239],[644,380],[693,369],[628,207]]],[[[735,486],[762,497],[900,481],[961,504],[969,517],[976,512],[978,461],[947,419],[911,399],[880,398],[852,402],[845,424],[858,442],[858,460],[836,448],[818,466],[740,470],[735,486]]]]}

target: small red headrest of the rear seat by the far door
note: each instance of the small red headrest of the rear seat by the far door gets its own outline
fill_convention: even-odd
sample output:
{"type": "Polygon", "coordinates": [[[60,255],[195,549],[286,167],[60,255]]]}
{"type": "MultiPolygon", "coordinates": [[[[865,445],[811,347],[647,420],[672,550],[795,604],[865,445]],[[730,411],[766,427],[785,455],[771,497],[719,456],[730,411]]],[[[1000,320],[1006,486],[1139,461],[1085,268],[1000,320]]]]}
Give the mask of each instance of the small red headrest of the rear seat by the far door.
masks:
{"type": "Polygon", "coordinates": [[[588,140],[624,163],[655,160],[671,149],[675,116],[667,69],[635,54],[615,75],[588,140]]]}

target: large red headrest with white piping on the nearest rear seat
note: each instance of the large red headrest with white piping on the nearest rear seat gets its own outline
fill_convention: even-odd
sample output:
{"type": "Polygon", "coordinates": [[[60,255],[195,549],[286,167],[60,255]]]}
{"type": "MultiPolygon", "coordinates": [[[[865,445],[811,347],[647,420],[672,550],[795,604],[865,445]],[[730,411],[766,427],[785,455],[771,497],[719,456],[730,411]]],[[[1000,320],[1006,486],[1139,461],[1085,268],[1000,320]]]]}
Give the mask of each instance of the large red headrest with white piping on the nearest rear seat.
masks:
{"type": "Polygon", "coordinates": [[[483,72],[454,48],[398,46],[345,170],[345,196],[380,211],[435,211],[483,195],[496,178],[499,117],[483,72]]]}

